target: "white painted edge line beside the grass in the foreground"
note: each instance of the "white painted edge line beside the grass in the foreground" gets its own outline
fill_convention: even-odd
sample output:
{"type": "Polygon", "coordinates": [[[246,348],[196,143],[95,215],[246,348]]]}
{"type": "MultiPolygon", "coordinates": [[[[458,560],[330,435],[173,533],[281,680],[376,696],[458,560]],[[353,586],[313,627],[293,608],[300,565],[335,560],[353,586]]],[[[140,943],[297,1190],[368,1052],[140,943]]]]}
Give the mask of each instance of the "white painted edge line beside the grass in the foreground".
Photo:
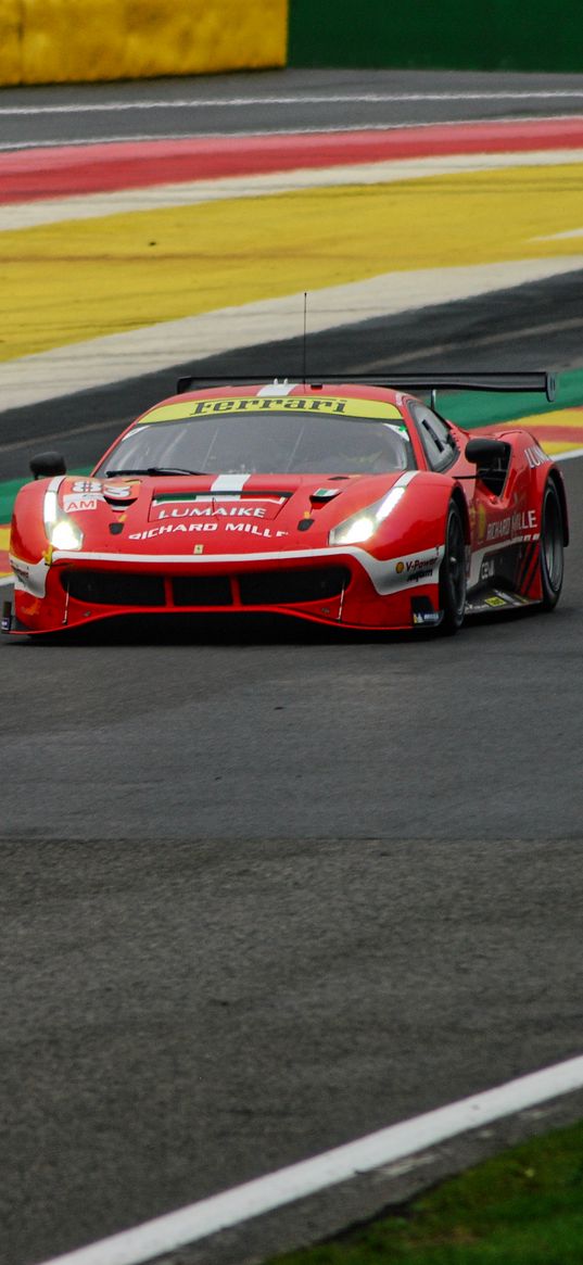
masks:
{"type": "Polygon", "coordinates": [[[53,1257],[44,1265],[142,1265],[143,1261],[166,1256],[187,1243],[216,1235],[220,1230],[239,1226],[362,1173],[371,1173],[384,1164],[425,1151],[449,1137],[582,1088],[583,1056],[568,1059],[543,1071],[519,1077],[497,1089],[487,1089],[401,1125],[391,1125],[355,1142],[324,1151],[311,1160],[245,1182],[233,1190],[224,1190],[210,1199],[156,1217],[135,1230],[125,1230],[97,1243],[53,1257]]]}

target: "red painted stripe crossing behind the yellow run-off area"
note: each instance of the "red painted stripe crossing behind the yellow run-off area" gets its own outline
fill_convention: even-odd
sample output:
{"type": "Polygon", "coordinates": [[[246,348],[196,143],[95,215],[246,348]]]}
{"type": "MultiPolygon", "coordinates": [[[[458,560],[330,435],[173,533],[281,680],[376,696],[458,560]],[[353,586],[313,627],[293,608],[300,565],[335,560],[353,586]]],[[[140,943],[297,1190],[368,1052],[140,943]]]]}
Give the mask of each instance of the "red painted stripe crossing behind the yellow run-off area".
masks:
{"type": "Polygon", "coordinates": [[[53,145],[0,153],[0,204],[295,167],[582,145],[583,116],[53,145]]]}

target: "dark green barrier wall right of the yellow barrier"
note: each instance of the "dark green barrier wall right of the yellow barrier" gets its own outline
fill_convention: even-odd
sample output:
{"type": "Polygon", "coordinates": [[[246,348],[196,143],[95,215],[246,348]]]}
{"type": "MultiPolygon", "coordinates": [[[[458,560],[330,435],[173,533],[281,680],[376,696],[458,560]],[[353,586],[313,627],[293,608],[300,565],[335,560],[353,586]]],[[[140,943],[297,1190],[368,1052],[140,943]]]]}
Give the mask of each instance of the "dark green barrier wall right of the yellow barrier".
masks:
{"type": "Polygon", "coordinates": [[[288,65],[583,71],[583,4],[290,0],[288,65]]]}

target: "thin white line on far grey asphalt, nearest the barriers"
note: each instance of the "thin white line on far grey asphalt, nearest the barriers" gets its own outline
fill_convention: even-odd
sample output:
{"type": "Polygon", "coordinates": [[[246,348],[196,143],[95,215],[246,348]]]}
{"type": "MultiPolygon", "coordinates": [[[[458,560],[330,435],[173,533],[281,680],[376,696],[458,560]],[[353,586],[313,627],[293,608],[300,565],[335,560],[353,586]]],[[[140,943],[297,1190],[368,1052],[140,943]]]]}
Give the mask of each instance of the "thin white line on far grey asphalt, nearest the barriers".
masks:
{"type": "Polygon", "coordinates": [[[368,101],[569,101],[583,97],[583,86],[524,92],[320,92],[296,96],[180,97],[173,101],[87,101],[73,105],[5,105],[0,115],[106,114],[115,110],[240,109],[245,105],[338,105],[368,101]]]}

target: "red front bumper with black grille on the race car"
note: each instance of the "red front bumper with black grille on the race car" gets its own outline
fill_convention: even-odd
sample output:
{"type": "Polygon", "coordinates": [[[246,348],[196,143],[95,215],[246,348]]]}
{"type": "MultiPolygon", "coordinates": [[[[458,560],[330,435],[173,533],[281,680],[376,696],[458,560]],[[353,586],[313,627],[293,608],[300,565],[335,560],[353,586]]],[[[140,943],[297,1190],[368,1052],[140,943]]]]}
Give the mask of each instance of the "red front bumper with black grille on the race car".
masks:
{"type": "Polygon", "coordinates": [[[13,559],[10,631],[57,632],[135,614],[290,615],[353,629],[439,622],[443,549],[378,559],[360,548],[156,557],[53,554],[13,559]]]}

